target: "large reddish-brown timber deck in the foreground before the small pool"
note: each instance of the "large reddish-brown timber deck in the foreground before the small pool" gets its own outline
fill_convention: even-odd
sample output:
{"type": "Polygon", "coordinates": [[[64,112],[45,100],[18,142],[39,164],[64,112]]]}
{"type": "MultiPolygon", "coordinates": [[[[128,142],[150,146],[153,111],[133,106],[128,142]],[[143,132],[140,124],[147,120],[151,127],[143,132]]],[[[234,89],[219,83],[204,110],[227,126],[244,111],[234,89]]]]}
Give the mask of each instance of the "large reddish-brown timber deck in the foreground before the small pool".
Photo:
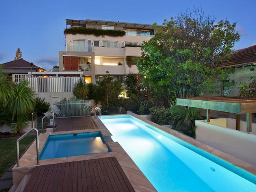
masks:
{"type": "Polygon", "coordinates": [[[26,192],[134,192],[115,157],[37,166],[26,192]]]}

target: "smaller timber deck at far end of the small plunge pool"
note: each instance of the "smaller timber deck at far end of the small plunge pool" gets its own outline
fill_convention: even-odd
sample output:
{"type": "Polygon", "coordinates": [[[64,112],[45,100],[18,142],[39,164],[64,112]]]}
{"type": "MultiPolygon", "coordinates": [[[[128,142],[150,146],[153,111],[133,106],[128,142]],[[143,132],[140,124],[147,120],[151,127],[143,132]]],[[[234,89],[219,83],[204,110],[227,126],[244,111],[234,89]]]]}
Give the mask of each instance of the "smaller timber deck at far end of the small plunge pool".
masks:
{"type": "Polygon", "coordinates": [[[55,125],[57,126],[55,131],[74,131],[98,128],[91,116],[56,118],[55,125]]]}

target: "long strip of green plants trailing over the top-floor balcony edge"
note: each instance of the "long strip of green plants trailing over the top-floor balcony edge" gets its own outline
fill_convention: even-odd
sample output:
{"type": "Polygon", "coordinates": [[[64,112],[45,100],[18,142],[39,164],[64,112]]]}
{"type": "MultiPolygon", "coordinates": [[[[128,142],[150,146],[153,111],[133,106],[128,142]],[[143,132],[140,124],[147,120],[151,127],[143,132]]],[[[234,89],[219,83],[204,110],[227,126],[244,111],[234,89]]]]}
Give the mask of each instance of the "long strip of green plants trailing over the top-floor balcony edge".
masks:
{"type": "Polygon", "coordinates": [[[104,36],[108,35],[111,37],[120,37],[125,35],[125,31],[122,30],[99,30],[95,28],[70,28],[70,29],[65,29],[64,34],[81,34],[81,35],[95,35],[96,37],[98,36],[104,36]]]}

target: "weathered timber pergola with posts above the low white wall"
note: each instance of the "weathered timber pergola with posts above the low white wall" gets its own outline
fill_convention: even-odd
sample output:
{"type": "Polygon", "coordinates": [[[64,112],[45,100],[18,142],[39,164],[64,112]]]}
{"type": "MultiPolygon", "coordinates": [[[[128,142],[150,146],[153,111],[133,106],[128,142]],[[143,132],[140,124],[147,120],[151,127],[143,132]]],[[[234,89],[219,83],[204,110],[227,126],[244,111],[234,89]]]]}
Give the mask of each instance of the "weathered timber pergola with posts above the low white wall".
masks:
{"type": "Polygon", "coordinates": [[[210,110],[236,113],[236,129],[240,130],[240,114],[246,114],[247,132],[252,131],[252,113],[256,113],[256,98],[233,96],[194,97],[177,99],[177,105],[206,109],[206,121],[210,122],[210,110]]]}

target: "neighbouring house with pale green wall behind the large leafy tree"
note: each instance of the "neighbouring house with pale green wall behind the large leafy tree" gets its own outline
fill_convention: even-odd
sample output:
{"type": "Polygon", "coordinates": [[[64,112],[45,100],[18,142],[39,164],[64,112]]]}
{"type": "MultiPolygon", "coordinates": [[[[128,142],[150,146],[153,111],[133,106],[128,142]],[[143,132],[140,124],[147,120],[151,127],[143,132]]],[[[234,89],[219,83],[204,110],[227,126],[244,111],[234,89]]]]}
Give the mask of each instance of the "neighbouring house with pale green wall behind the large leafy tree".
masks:
{"type": "Polygon", "coordinates": [[[221,94],[223,96],[238,96],[239,82],[248,83],[250,76],[256,75],[256,45],[235,51],[232,57],[228,61],[220,63],[219,67],[235,68],[234,73],[229,74],[228,77],[236,81],[236,85],[232,87],[225,87],[223,83],[221,94]]]}

